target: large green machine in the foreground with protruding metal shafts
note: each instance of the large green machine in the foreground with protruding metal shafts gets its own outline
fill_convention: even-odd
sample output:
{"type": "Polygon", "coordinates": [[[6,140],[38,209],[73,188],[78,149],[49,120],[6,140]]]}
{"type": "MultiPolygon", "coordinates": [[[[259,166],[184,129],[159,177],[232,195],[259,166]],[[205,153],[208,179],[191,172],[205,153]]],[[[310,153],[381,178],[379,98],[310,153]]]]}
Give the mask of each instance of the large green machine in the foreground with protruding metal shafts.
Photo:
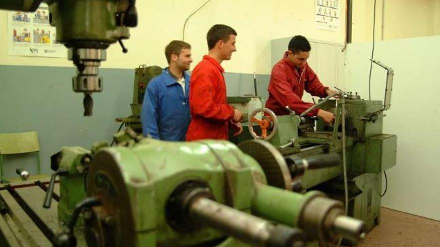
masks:
{"type": "MultiPolygon", "coordinates": [[[[277,152],[264,141],[253,142],[277,152]]],[[[316,156],[297,160],[296,167],[319,169],[338,161],[338,155],[316,156]]],[[[62,176],[58,217],[64,229],[47,235],[54,246],[291,247],[365,235],[364,223],[345,216],[342,204],[323,193],[267,185],[258,162],[227,141],[163,142],[128,130],[117,135],[116,147],[64,147],[52,162],[52,178],[62,176]],[[76,179],[84,175],[81,195],[75,186],[84,180],[76,179]]],[[[53,181],[49,195],[51,188],[53,181]]],[[[7,197],[21,189],[0,190],[1,219],[18,226],[0,224],[4,243],[13,247],[32,240],[10,244],[30,228],[14,221],[7,197]]]]}

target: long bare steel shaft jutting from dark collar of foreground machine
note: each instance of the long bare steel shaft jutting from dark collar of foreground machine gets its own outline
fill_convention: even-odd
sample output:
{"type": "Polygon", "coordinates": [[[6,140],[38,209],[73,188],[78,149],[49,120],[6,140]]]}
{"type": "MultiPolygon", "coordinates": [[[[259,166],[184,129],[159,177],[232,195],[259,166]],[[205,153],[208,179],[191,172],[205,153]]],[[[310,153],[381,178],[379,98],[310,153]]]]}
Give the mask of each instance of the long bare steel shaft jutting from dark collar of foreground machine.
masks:
{"type": "Polygon", "coordinates": [[[192,219],[258,247],[305,246],[302,231],[244,213],[205,197],[192,200],[192,219]]]}

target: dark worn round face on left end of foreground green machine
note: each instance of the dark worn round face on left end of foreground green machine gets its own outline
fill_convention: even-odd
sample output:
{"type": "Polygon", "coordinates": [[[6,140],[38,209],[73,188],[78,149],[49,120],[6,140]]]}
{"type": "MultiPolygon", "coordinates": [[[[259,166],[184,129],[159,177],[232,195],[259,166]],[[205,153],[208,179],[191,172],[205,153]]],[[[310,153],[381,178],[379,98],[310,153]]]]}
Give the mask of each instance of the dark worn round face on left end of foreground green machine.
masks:
{"type": "Polygon", "coordinates": [[[102,201],[102,206],[93,207],[91,217],[84,219],[88,221],[87,232],[100,233],[90,246],[135,246],[130,197],[119,166],[118,157],[109,152],[98,152],[90,166],[87,196],[102,201]]]}

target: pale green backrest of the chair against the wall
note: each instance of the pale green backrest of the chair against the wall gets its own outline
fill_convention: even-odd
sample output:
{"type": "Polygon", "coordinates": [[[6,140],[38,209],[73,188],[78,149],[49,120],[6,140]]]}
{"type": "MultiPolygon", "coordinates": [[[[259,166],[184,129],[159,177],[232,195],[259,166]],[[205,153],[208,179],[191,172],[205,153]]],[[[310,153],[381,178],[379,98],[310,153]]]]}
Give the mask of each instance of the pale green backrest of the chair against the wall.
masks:
{"type": "Polygon", "coordinates": [[[38,133],[35,131],[0,134],[0,154],[22,154],[39,151],[38,133]]]}

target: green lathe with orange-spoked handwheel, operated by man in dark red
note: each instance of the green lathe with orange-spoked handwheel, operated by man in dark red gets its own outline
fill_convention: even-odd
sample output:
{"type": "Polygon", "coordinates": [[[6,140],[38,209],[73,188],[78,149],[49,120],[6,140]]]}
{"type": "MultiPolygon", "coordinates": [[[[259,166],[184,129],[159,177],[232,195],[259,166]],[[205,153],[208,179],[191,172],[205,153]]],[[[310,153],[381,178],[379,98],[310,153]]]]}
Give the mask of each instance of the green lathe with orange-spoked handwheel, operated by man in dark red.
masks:
{"type": "MultiPolygon", "coordinates": [[[[390,96],[389,96],[390,97],[390,96]]],[[[336,116],[334,125],[295,115],[275,116],[266,108],[249,114],[247,124],[252,139],[263,139],[277,152],[266,152],[260,143],[238,140],[239,147],[255,158],[269,185],[306,192],[320,190],[345,202],[349,216],[365,221],[367,231],[380,222],[382,172],[396,164],[397,137],[383,134],[381,101],[361,100],[346,94],[337,100],[319,103],[336,116]],[[255,116],[263,112],[263,118],[255,116]],[[298,170],[295,160],[318,154],[341,156],[338,166],[318,170],[298,170]]],[[[328,100],[328,101],[327,101],[328,100]]],[[[317,105],[315,105],[316,107],[317,105]]]]}

